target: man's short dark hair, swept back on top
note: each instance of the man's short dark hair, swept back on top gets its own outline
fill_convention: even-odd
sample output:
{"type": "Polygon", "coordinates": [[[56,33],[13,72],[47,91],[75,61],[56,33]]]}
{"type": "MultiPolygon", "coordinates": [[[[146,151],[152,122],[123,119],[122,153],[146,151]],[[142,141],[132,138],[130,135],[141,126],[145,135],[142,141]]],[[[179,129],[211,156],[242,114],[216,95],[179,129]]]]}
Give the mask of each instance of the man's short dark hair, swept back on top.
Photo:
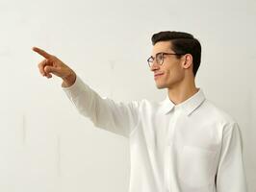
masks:
{"type": "MultiPolygon", "coordinates": [[[[196,75],[201,62],[201,44],[191,34],[166,31],[154,34],[151,40],[153,45],[159,41],[170,41],[172,45],[171,49],[176,54],[191,54],[192,72],[194,76],[196,75]]],[[[181,58],[181,56],[177,56],[177,58],[181,58]]]]}

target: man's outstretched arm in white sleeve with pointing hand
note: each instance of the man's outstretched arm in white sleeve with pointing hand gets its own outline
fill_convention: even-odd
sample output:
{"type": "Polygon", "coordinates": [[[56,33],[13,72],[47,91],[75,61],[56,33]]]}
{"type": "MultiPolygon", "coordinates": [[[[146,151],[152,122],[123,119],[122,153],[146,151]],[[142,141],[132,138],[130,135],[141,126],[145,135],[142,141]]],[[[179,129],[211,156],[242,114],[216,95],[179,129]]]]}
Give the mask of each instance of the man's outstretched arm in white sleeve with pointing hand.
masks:
{"type": "Polygon", "coordinates": [[[125,104],[102,98],[62,60],[37,47],[33,50],[44,58],[38,63],[41,75],[62,78],[66,95],[82,115],[98,128],[129,137],[139,122],[139,102],[125,104]]]}

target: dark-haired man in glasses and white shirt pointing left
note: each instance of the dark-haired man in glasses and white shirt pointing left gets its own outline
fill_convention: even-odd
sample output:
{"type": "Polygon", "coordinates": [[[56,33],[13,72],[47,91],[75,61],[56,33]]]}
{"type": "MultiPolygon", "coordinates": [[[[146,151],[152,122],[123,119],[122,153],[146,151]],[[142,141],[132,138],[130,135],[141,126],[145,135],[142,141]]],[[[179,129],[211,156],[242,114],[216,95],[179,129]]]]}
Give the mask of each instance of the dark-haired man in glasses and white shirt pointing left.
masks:
{"type": "Polygon", "coordinates": [[[130,192],[246,192],[242,138],[238,124],[205,99],[194,77],[201,45],[192,35],[160,32],[152,36],[147,60],[162,102],[117,103],[100,97],[63,61],[45,58],[40,73],[63,79],[64,92],[98,128],[130,141],[130,192]]]}

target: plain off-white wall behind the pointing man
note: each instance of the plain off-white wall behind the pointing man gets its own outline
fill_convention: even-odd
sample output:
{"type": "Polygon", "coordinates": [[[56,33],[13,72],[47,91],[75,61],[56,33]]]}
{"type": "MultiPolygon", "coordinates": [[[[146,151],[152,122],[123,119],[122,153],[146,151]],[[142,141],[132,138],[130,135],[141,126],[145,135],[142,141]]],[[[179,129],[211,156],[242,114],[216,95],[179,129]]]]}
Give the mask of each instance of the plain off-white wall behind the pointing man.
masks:
{"type": "Polygon", "coordinates": [[[256,191],[255,20],[254,0],[0,0],[0,191],[127,191],[128,141],[80,116],[61,81],[39,75],[31,48],[103,96],[162,100],[146,59],[152,34],[166,30],[201,41],[197,86],[239,122],[256,191]]]}

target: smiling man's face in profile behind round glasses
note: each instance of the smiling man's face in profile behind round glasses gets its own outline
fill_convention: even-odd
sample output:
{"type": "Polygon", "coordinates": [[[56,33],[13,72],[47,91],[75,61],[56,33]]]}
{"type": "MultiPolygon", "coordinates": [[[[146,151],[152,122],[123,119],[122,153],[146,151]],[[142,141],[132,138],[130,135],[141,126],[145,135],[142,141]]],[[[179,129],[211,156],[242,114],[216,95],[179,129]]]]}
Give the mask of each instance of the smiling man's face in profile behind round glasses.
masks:
{"type": "MultiPolygon", "coordinates": [[[[171,50],[171,43],[169,41],[157,42],[152,51],[152,57],[155,58],[158,53],[175,53],[171,50]]],[[[185,77],[183,67],[183,57],[177,59],[175,55],[164,55],[164,62],[162,65],[153,61],[150,70],[154,72],[154,79],[158,88],[172,88],[180,84],[185,77]]]]}

